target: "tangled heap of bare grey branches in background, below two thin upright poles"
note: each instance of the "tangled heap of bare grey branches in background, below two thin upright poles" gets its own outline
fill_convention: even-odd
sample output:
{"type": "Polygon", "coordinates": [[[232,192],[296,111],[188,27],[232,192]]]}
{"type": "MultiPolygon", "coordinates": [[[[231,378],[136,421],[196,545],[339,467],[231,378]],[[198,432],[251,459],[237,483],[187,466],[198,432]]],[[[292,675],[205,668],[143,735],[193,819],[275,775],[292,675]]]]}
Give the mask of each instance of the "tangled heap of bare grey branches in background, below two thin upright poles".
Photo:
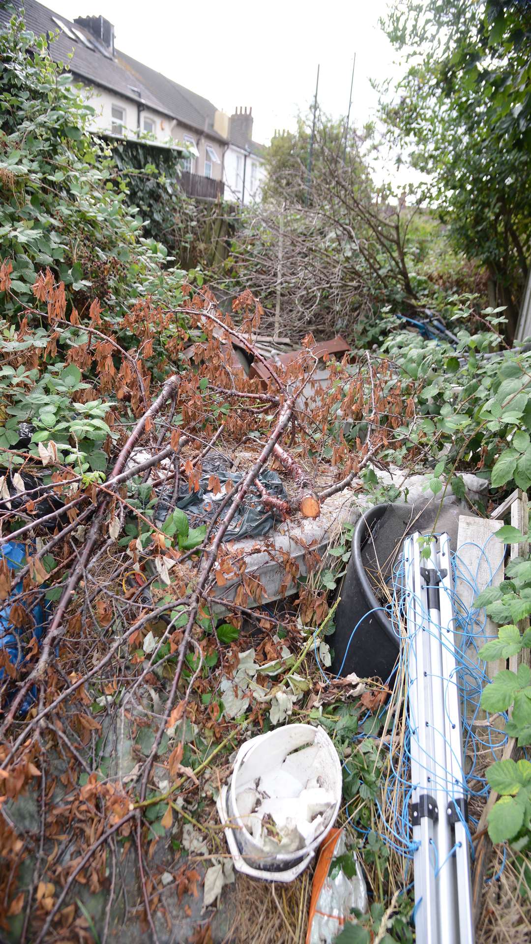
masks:
{"type": "Polygon", "coordinates": [[[417,206],[375,188],[369,143],[351,131],[346,146],[343,131],[317,110],[311,172],[308,150],[296,149],[308,136],[286,165],[273,142],[265,199],[242,211],[221,279],[253,285],[266,333],[330,337],[382,305],[416,308],[406,241],[417,206]]]}

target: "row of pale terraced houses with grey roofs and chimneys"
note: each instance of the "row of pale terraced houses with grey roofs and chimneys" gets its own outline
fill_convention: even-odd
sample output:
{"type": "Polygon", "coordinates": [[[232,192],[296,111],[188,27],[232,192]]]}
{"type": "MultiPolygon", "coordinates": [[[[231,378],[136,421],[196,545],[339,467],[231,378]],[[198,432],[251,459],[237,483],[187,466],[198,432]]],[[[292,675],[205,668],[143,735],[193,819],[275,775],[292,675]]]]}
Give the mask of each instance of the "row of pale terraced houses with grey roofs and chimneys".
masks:
{"type": "Polygon", "coordinates": [[[181,183],[192,196],[250,203],[266,176],[264,148],[252,140],[251,109],[231,115],[116,49],[114,26],[103,16],[73,22],[37,3],[0,3],[0,25],[24,8],[26,26],[48,38],[50,56],[65,63],[86,88],[94,129],[116,137],[182,146],[181,183]],[[52,42],[53,41],[53,42],[52,42]]]}

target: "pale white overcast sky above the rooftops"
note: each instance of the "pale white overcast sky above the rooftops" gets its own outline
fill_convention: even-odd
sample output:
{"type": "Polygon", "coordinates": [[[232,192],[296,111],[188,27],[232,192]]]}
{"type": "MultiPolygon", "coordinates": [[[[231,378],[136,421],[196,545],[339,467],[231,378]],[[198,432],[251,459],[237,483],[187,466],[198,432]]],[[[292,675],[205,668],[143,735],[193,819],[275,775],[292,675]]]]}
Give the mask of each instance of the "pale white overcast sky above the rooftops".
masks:
{"type": "MultiPolygon", "coordinates": [[[[46,0],[45,0],[46,2],[46,0]]],[[[253,138],[268,143],[275,128],[294,128],[313,101],[337,117],[349,105],[362,126],[377,95],[369,79],[396,74],[393,51],[378,19],[389,0],[47,0],[74,20],[101,13],[116,46],[163,75],[209,98],[229,114],[252,106],[253,138]]]]}

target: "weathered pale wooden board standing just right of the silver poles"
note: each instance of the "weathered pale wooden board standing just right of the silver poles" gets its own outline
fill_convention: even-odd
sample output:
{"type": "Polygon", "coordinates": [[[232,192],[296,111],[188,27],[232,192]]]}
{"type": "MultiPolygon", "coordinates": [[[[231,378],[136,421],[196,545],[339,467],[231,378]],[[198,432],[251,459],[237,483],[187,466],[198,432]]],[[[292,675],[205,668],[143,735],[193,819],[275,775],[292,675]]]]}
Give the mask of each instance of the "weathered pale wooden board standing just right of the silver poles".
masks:
{"type": "MultiPolygon", "coordinates": [[[[502,541],[494,537],[496,531],[499,531],[503,522],[495,521],[491,518],[475,518],[468,515],[459,515],[459,526],[457,531],[457,573],[455,578],[455,610],[461,611],[466,615],[472,609],[474,598],[481,593],[487,586],[497,586],[504,580],[504,557],[505,546],[502,541]]],[[[481,649],[489,639],[494,639],[498,635],[498,627],[488,617],[485,625],[476,625],[471,631],[473,641],[471,645],[465,647],[464,637],[456,639],[455,645],[463,653],[467,666],[470,671],[474,667],[479,669],[480,662],[477,657],[477,650],[481,649]]],[[[491,679],[498,669],[505,668],[505,660],[489,662],[486,666],[488,678],[491,679]]],[[[485,712],[477,711],[479,704],[479,692],[477,701],[469,703],[467,714],[469,717],[475,715],[476,721],[484,721],[485,712]]],[[[498,735],[492,732],[493,740],[498,739],[498,735]]],[[[503,738],[500,735],[500,739],[503,738]]]]}

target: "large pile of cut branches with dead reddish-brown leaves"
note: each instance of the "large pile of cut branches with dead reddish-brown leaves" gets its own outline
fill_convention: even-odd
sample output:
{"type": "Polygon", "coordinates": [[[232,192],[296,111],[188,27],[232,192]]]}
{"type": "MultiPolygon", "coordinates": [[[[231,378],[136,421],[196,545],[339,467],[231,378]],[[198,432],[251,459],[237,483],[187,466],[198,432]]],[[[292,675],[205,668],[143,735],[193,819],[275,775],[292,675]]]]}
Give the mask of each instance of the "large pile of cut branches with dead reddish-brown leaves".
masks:
{"type": "MultiPolygon", "coordinates": [[[[2,271],[3,291],[16,302],[8,263],[2,271]]],[[[386,409],[383,386],[374,376],[366,410],[363,381],[352,383],[346,396],[346,365],[336,364],[330,388],[310,409],[300,394],[316,367],[312,338],[288,368],[269,366],[267,389],[249,381],[231,362],[232,343],[263,361],[252,341],[261,306],[248,292],[234,302],[238,330],[211,292],[194,294],[190,286],[178,308],[157,308],[147,299],[120,324],[107,320],[97,302],[82,322],[75,310],[67,317],[64,286],[49,270],[33,293],[35,307],[22,307],[4,346],[6,376],[15,378],[8,410],[21,409],[17,384],[27,376],[27,396],[39,377],[57,391],[59,370],[66,372],[59,378],[64,376],[61,389],[70,384],[70,400],[50,400],[58,401],[55,408],[63,414],[70,409],[72,419],[53,428],[57,417],[50,418],[52,407],[45,403],[28,417],[40,424],[38,434],[4,452],[0,600],[4,626],[16,631],[18,653],[12,659],[7,648],[0,649],[0,895],[6,902],[0,921],[8,929],[18,920],[19,939],[33,944],[90,940],[86,916],[76,908],[78,884],[88,883],[93,893],[105,885],[109,899],[100,933],[107,940],[119,894],[120,842],[136,852],[139,914],[157,940],[159,885],[149,859],[160,833],[153,834],[149,814],[163,804],[164,832],[176,791],[194,788],[212,758],[232,746],[232,726],[221,720],[219,701],[201,700],[209,666],[219,658],[227,668],[235,658],[235,649],[224,653],[213,632],[214,596],[230,614],[230,630],[237,634],[248,616],[275,649],[270,631],[277,621],[260,608],[248,609],[261,602],[264,589],[247,573],[246,554],[233,550],[225,535],[252,490],[282,519],[319,514],[328,497],[350,485],[385,448],[388,430],[385,424],[379,428],[377,415],[386,409]],[[193,357],[183,358],[191,342],[193,357]],[[105,467],[91,471],[78,417],[98,403],[107,410],[105,421],[98,421],[107,430],[98,453],[105,467]],[[369,418],[372,431],[355,453],[334,419],[339,403],[345,415],[369,418]],[[234,455],[244,445],[246,468],[237,484],[226,486],[208,527],[183,528],[184,515],[176,509],[182,483],[186,491],[197,489],[214,447],[234,455]],[[322,487],[317,469],[322,472],[324,455],[328,481],[322,487]],[[288,502],[269,496],[258,482],[270,460],[289,481],[288,502]],[[170,496],[163,523],[156,516],[161,489],[170,496]],[[16,545],[24,547],[25,561],[13,570],[9,555],[16,545]],[[231,581],[237,583],[235,594],[220,598],[231,581]],[[39,605],[48,613],[41,632],[39,605]],[[153,698],[147,713],[146,691],[153,698]],[[144,756],[139,753],[128,777],[102,764],[102,754],[112,753],[105,743],[112,741],[118,715],[131,740],[154,722],[144,756]],[[185,725],[191,720],[202,723],[209,741],[186,764],[185,725]],[[168,731],[175,747],[162,762],[168,731]],[[171,782],[164,788],[157,773],[162,763],[171,782]],[[35,800],[40,824],[30,834],[18,827],[15,813],[26,794],[35,800]],[[25,860],[30,879],[21,890],[25,860]]],[[[90,429],[97,438],[95,421],[90,429]]],[[[219,495],[214,473],[209,488],[219,495]]],[[[281,556],[296,578],[289,555],[281,556]]],[[[326,592],[319,603],[315,612],[322,619],[326,592]]],[[[186,881],[194,879],[188,875],[186,881]]]]}

